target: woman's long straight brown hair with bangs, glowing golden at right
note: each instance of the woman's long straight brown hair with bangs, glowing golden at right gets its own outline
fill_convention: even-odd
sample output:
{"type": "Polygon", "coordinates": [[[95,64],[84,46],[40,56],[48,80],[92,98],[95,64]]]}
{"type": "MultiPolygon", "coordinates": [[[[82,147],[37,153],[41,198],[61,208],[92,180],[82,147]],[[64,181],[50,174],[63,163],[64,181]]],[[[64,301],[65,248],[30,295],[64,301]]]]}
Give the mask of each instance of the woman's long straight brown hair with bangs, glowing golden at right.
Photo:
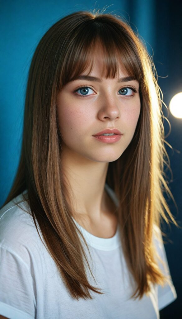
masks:
{"type": "Polygon", "coordinates": [[[164,286],[168,281],[157,263],[154,226],[160,228],[162,219],[178,224],[163,195],[166,190],[173,198],[164,179],[168,155],[156,69],[126,21],[109,13],[78,11],[56,22],[40,40],[29,70],[19,167],[4,205],[27,189],[24,200],[70,295],[78,300],[92,299],[89,290],[103,293],[86,276],[85,266],[91,268],[79,239],[79,234],[84,236],[72,219],[76,212],[62,167],[56,113],[58,92],[87,67],[91,71],[97,45],[104,52],[106,78],[116,77],[121,64],[140,84],[141,112],[134,137],[120,158],[109,163],[106,183],[119,199],[115,213],[120,240],[136,284],[131,298],[141,299],[151,283],[164,286]]]}

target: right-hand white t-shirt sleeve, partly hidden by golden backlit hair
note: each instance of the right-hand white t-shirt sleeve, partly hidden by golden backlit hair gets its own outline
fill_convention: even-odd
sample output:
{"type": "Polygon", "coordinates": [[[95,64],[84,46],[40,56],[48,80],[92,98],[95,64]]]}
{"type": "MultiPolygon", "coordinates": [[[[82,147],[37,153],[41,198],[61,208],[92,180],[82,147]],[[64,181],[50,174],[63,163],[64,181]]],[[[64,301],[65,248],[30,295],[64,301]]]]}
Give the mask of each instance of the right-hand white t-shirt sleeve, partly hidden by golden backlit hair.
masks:
{"type": "Polygon", "coordinates": [[[156,229],[158,233],[158,238],[155,237],[157,253],[159,257],[162,259],[162,261],[164,262],[164,264],[161,263],[160,261],[157,261],[157,262],[159,264],[160,269],[164,273],[164,275],[169,276],[169,283],[165,284],[163,287],[160,285],[157,286],[158,307],[159,307],[159,310],[161,310],[165,308],[166,306],[168,306],[171,302],[176,300],[177,293],[171,279],[171,274],[170,274],[169,265],[168,265],[168,261],[166,257],[164,243],[162,241],[161,230],[158,227],[156,229]]]}

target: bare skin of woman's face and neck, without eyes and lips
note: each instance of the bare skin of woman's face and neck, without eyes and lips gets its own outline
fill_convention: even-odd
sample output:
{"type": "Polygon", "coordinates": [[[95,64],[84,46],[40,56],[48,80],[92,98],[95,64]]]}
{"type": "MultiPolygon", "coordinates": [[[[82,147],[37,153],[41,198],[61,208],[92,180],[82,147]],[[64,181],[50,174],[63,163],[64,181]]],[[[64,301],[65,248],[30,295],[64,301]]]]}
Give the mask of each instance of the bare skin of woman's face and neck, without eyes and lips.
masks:
{"type": "MultiPolygon", "coordinates": [[[[103,52],[95,51],[90,76],[101,78],[103,52]]],[[[85,70],[82,75],[86,75],[85,70]]],[[[128,74],[120,66],[119,78],[128,74]]],[[[77,79],[69,82],[57,97],[57,114],[62,135],[62,165],[74,194],[74,208],[86,216],[93,229],[108,229],[112,204],[104,190],[109,162],[118,159],[130,144],[140,115],[139,83],[135,80],[117,83],[118,78],[104,78],[102,82],[77,79]],[[87,97],[81,85],[89,85],[87,97]],[[132,85],[126,95],[121,88],[132,85]],[[129,96],[132,95],[132,96],[129,96]],[[84,97],[82,97],[84,96],[84,97]],[[106,144],[94,134],[106,128],[116,128],[123,134],[118,142],[106,144]]],[[[114,225],[114,221],[110,223],[114,225]]],[[[114,227],[114,226],[111,226],[114,227]]],[[[112,228],[113,229],[113,228],[112,228]]],[[[111,234],[111,231],[110,231],[111,234]]]]}

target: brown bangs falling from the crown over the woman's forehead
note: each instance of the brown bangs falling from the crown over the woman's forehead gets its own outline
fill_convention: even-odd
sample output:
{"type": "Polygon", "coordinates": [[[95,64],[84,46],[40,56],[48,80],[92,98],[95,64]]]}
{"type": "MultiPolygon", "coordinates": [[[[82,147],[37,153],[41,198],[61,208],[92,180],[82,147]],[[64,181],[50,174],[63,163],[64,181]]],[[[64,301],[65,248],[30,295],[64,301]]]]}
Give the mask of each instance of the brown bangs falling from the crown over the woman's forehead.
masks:
{"type": "Polygon", "coordinates": [[[102,76],[105,78],[118,78],[119,67],[126,71],[128,76],[133,76],[142,87],[144,72],[142,70],[142,61],[137,52],[137,45],[123,29],[123,26],[117,28],[105,23],[105,19],[92,19],[84,21],[75,33],[73,39],[70,39],[62,61],[61,79],[59,90],[68,82],[73,81],[85,70],[89,69],[87,75],[91,73],[94,59],[97,58],[96,49],[102,50],[104,56],[104,68],[102,76]],[[128,37],[128,39],[127,39],[128,37]]]}

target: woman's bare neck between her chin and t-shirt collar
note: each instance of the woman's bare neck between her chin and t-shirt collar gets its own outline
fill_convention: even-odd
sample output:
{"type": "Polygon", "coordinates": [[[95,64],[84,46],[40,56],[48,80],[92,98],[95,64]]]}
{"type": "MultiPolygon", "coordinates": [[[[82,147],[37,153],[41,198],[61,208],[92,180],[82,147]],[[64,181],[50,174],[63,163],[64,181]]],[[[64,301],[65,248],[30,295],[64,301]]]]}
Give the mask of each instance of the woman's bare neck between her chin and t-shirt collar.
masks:
{"type": "Polygon", "coordinates": [[[104,187],[109,163],[91,161],[69,149],[62,153],[61,160],[74,211],[92,220],[101,219],[108,204],[104,187]]]}

